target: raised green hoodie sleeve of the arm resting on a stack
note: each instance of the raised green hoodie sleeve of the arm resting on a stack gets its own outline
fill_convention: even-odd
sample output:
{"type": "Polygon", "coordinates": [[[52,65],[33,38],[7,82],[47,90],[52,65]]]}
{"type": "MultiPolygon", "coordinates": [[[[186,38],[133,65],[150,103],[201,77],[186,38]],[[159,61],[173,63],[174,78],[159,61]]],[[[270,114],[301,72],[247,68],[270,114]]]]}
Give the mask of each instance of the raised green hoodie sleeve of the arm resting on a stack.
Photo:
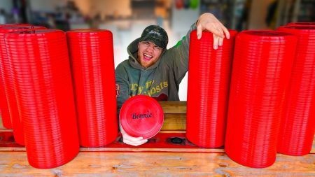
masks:
{"type": "Polygon", "coordinates": [[[174,70],[176,83],[181,83],[181,80],[188,71],[189,43],[190,32],[196,29],[196,23],[192,24],[190,30],[181,38],[174,47],[165,52],[165,62],[174,70]]]}

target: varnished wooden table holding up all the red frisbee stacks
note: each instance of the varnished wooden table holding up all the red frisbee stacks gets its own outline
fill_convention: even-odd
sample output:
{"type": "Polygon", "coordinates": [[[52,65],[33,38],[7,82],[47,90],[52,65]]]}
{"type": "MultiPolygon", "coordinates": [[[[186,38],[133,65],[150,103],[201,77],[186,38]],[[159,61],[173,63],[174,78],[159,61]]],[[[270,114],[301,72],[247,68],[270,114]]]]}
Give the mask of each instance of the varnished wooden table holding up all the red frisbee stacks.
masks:
{"type": "MultiPolygon", "coordinates": [[[[186,102],[160,102],[165,111],[161,134],[184,134],[186,102]]],[[[1,125],[1,122],[0,122],[1,125]]],[[[11,130],[0,127],[0,132],[11,130]]],[[[1,141],[1,140],[0,140],[1,141]]],[[[119,145],[119,144],[118,144],[119,145]]],[[[80,148],[71,162],[54,169],[29,166],[24,147],[0,148],[2,176],[315,176],[315,143],[309,155],[278,154],[264,169],[244,167],[230,160],[223,148],[80,148]]]]}

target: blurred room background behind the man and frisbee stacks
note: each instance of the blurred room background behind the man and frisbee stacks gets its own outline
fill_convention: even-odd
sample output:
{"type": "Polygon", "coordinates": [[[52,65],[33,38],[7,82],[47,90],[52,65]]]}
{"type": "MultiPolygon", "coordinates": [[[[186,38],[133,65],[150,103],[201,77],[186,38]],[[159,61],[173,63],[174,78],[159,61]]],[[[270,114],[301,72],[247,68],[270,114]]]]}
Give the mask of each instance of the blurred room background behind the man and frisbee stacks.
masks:
{"type": "MultiPolygon", "coordinates": [[[[128,58],[127,45],[149,24],[169,34],[171,48],[202,13],[226,27],[276,29],[288,22],[315,22],[315,0],[0,0],[0,24],[30,23],[52,29],[109,29],[115,66],[128,58]]],[[[180,86],[186,100],[187,75],[180,86]]]]}

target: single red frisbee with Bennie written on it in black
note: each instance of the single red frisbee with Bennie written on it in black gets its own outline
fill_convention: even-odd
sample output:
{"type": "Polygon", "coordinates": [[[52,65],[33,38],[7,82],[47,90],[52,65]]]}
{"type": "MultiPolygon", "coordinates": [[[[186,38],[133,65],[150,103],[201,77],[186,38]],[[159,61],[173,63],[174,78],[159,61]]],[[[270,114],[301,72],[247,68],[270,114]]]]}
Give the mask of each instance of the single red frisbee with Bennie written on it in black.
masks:
{"type": "Polygon", "coordinates": [[[164,114],[158,101],[145,95],[137,95],[125,101],[119,118],[127,134],[149,139],[160,131],[164,114]]]}

